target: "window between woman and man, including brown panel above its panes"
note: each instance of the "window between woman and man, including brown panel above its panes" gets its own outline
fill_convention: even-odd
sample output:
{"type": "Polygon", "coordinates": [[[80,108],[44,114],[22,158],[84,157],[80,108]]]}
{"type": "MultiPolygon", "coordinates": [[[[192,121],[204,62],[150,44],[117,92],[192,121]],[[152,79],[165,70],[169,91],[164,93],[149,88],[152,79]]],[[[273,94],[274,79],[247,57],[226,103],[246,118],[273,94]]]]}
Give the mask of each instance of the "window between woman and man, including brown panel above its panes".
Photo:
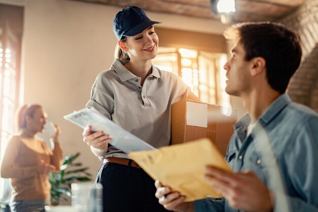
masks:
{"type": "Polygon", "coordinates": [[[227,43],[222,35],[155,27],[159,37],[152,63],[181,77],[201,101],[230,108],[225,92],[227,43]]]}

